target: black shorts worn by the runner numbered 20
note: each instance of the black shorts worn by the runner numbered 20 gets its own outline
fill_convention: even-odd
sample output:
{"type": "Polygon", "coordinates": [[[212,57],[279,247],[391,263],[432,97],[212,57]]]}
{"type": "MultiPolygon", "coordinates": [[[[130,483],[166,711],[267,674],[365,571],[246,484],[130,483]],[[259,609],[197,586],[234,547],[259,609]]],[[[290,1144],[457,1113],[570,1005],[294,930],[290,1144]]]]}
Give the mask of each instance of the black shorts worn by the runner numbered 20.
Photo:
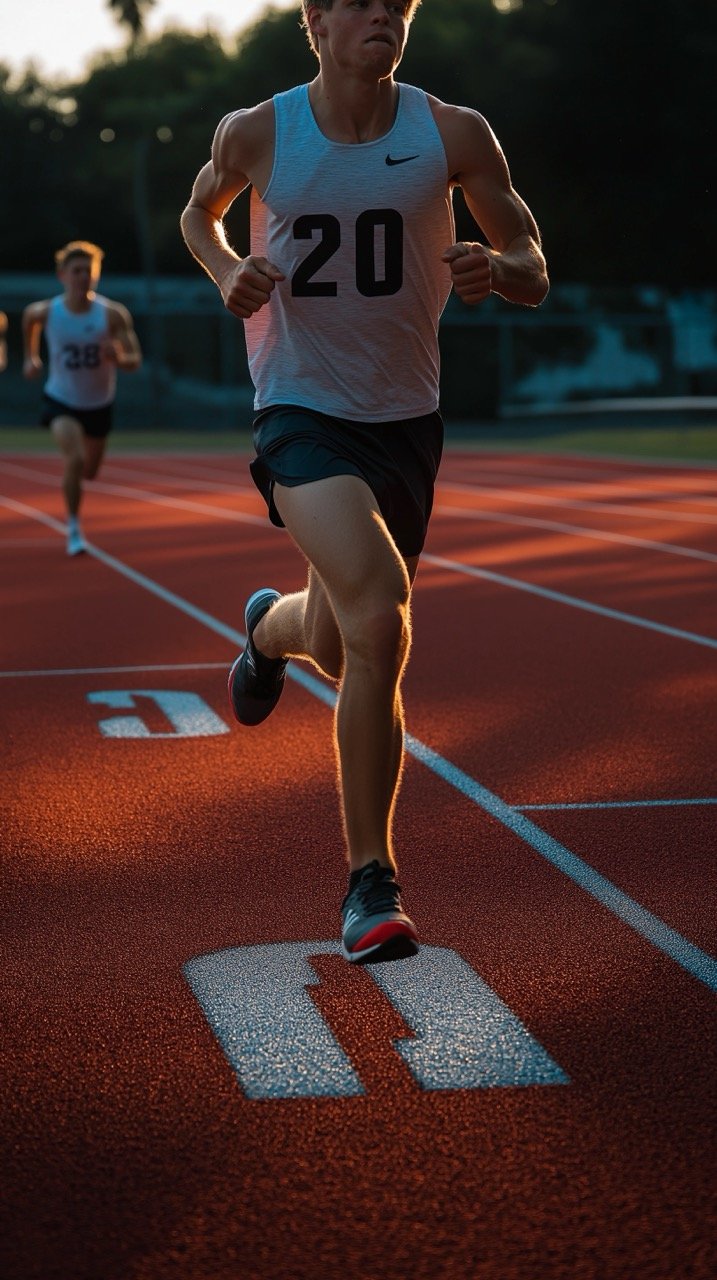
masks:
{"type": "Polygon", "coordinates": [[[351,422],[297,404],[273,404],[254,422],[250,471],[279,529],[274,484],[293,488],[329,476],[358,476],[374,494],[403,557],[419,556],[443,451],[440,413],[393,422],[351,422]]]}

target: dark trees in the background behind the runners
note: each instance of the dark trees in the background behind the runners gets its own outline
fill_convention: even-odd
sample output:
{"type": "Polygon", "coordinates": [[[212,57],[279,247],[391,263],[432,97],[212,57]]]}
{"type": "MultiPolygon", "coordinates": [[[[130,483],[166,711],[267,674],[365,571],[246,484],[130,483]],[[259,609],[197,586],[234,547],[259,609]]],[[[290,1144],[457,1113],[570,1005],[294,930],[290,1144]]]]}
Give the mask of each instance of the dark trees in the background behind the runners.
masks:
{"type": "MultiPolygon", "coordinates": [[[[151,3],[113,8],[136,37],[151,3]]],[[[684,288],[714,284],[716,60],[714,0],[424,0],[399,77],[488,118],[554,280],[684,288]]],[[[315,69],[298,3],[229,49],[133,38],[82,83],[18,84],[0,67],[0,270],[46,269],[73,237],[141,270],[143,201],[156,269],[196,271],[178,218],[218,120],[315,69]]],[[[243,198],[230,230],[245,251],[243,198]]]]}

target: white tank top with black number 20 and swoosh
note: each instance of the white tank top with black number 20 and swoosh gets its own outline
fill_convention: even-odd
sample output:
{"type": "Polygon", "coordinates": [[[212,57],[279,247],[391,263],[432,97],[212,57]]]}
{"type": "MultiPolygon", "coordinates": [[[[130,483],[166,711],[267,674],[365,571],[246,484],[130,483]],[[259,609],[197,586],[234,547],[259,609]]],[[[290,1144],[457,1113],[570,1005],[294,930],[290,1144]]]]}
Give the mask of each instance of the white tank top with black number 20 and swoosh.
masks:
{"type": "Polygon", "coordinates": [[[274,97],[274,166],[251,193],[251,251],[284,274],[245,333],[255,407],[355,421],[431,413],[453,243],[446,151],[426,95],[399,84],[391,131],[332,142],[309,86],[274,97]]]}

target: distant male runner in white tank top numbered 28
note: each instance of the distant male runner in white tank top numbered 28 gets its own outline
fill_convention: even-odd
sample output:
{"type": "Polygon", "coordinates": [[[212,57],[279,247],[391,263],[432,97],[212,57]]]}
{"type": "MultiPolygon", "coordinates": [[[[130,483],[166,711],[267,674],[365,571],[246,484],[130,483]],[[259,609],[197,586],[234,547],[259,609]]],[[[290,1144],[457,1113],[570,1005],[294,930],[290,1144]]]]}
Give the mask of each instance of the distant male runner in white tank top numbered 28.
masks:
{"type": "Polygon", "coordinates": [[[41,422],[50,428],[64,457],[68,556],[86,549],[79,527],[82,480],[92,480],[102,462],[117,370],[138,369],[142,361],[127,307],[95,293],[102,256],[88,241],[72,241],[58,250],[55,262],[64,292],[33,302],[23,312],[26,378],[42,372],[42,334],[47,346],[50,372],[41,422]]]}

